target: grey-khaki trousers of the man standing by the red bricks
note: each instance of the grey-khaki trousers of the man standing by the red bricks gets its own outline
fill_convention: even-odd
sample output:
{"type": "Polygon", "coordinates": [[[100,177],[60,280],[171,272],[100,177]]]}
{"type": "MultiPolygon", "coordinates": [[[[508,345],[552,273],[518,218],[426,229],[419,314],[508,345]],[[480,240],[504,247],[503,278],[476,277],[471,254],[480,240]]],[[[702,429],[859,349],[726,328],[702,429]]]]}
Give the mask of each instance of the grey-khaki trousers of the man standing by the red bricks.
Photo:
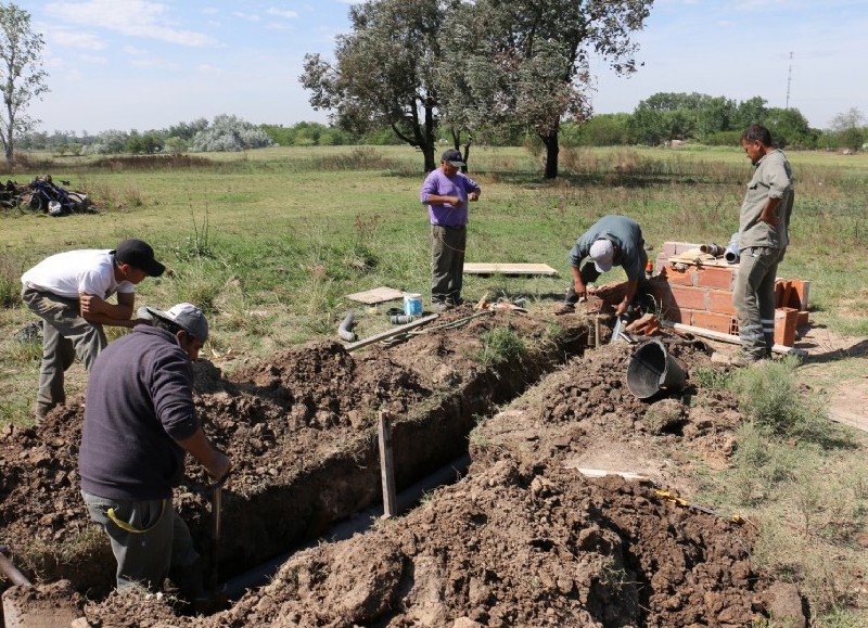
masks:
{"type": "Polygon", "coordinates": [[[742,350],[753,360],[771,356],[775,346],[775,279],[782,256],[783,251],[766,246],[741,251],[732,307],[739,315],[742,350]]]}

